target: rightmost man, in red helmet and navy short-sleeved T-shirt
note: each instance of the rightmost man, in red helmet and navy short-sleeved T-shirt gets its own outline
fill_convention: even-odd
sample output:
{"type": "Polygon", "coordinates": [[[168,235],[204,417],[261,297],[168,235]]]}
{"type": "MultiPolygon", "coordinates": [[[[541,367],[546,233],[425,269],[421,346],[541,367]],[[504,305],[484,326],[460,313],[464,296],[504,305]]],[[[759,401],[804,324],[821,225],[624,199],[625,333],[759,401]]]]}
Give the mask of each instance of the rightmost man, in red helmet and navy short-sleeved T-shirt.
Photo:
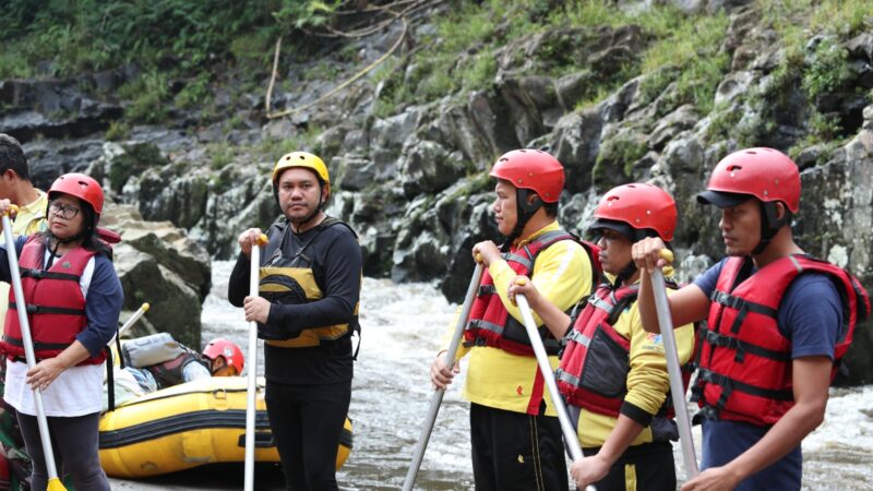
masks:
{"type": "MultiPolygon", "coordinates": [[[[721,208],[728,258],[670,297],[673,322],[707,321],[692,399],[703,422],[693,490],[799,490],[801,441],[824,419],[828,386],[870,312],[858,280],[794,242],[797,165],[772,148],[734,152],[713,170],[702,204],[721,208]]],[[[665,265],[658,238],[634,244],[644,272],[665,265]]],[[[643,274],[639,313],[658,331],[643,274]]]]}

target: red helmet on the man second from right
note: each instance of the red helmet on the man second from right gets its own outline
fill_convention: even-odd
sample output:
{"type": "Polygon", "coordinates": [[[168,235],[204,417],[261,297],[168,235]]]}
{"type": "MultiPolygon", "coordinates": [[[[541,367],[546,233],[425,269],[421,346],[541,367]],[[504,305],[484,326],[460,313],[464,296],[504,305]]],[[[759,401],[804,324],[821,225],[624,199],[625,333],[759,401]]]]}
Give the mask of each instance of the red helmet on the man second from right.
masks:
{"type": "Polygon", "coordinates": [[[678,215],[675,202],[662,189],[643,183],[623,184],[603,194],[594,211],[596,219],[590,228],[611,228],[631,240],[645,237],[633,230],[654,230],[669,242],[673,240],[678,215]]]}

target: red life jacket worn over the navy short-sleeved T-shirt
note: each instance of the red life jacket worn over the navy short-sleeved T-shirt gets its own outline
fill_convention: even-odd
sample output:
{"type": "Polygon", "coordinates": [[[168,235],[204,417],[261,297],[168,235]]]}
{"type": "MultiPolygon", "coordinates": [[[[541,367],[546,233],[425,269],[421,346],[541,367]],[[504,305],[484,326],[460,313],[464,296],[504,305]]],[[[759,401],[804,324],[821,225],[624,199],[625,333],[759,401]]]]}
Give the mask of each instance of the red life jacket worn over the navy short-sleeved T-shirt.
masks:
{"type": "Polygon", "coordinates": [[[852,342],[854,326],[870,313],[860,283],[826,261],[793,254],[749,276],[750,258],[725,262],[713,290],[708,328],[702,332],[701,368],[692,400],[709,419],[774,424],[793,405],[791,342],[779,332],[778,310],[791,282],[804,272],[823,273],[839,291],[844,326],[834,349],[832,381],[852,342]]]}

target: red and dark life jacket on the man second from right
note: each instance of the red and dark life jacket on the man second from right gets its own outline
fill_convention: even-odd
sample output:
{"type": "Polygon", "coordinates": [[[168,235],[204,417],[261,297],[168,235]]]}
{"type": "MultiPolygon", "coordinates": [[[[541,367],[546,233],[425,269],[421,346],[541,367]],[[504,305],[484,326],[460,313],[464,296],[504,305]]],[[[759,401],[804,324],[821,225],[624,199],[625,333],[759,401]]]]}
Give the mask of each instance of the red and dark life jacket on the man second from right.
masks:
{"type": "MultiPolygon", "coordinates": [[[[668,288],[678,286],[670,282],[668,288]]],[[[634,301],[639,285],[613,287],[603,283],[588,298],[588,304],[567,333],[561,364],[555,370],[558,388],[567,403],[617,418],[627,395],[631,371],[631,340],[614,328],[621,313],[634,301]]],[[[691,372],[683,367],[687,385],[691,372]]],[[[667,397],[659,416],[672,418],[672,399],[667,397]]]]}

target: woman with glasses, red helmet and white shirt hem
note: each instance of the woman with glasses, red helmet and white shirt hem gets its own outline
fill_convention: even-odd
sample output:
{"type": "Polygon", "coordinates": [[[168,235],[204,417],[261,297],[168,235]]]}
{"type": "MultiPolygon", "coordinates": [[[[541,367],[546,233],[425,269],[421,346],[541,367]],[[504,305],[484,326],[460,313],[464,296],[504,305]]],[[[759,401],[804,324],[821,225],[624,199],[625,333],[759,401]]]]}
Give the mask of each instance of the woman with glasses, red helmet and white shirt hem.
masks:
{"type": "MultiPolygon", "coordinates": [[[[103,189],[81,173],[59,177],[48,191],[48,230],[15,242],[24,302],[36,354],[27,370],[16,309],[10,295],[0,350],[8,359],[3,398],[19,414],[33,460],[31,489],[46,489],[46,464],[33,391],[43,394],[56,464],[79,491],[108,490],[97,436],[103,402],[106,345],[123,303],[110,249],[97,236],[103,189]]],[[[9,209],[0,200],[0,214],[9,209]]],[[[0,280],[10,282],[7,250],[0,248],[0,280]]]]}

